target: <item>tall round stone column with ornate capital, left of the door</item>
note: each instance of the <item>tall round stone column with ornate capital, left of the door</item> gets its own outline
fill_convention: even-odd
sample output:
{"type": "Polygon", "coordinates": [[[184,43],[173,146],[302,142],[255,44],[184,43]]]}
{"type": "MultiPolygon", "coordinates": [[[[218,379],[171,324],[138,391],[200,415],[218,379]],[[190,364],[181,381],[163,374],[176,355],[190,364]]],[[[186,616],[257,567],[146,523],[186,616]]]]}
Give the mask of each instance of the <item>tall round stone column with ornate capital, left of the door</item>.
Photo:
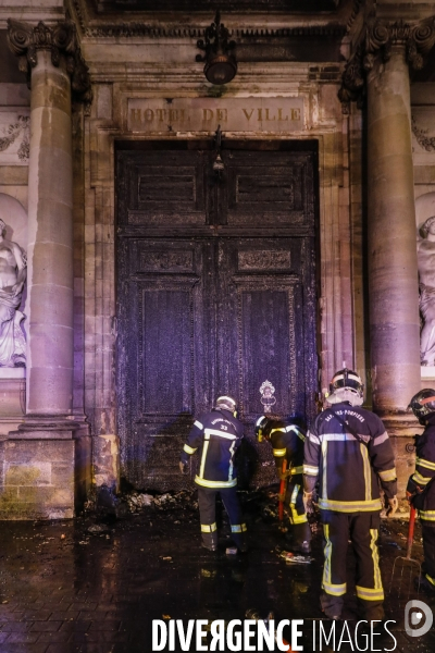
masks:
{"type": "Polygon", "coordinates": [[[32,88],[26,412],[66,417],[74,328],[71,94],[87,70],[71,22],[32,27],[10,21],[9,41],[32,88]]]}

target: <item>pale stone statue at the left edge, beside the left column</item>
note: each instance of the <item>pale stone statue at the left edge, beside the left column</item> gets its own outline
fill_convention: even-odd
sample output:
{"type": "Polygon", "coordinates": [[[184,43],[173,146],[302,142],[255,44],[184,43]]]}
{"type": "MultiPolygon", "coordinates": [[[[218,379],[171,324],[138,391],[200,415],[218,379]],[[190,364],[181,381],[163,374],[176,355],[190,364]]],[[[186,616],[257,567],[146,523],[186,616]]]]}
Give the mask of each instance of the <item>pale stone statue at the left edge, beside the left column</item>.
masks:
{"type": "Polygon", "coordinates": [[[26,341],[18,310],[26,281],[26,258],[16,243],[4,237],[0,219],[0,367],[25,367],[26,341]]]}

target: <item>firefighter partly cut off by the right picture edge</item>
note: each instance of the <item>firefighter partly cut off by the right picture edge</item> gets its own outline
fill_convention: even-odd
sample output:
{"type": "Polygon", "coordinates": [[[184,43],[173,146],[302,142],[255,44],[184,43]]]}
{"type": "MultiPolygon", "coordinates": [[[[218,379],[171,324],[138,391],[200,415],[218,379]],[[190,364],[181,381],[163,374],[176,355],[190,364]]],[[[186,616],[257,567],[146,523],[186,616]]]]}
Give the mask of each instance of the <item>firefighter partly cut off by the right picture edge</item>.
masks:
{"type": "Polygon", "coordinates": [[[415,471],[407,485],[407,496],[419,510],[423,534],[424,576],[415,580],[427,593],[435,593],[435,390],[418,392],[410,407],[425,427],[415,439],[415,471]]]}

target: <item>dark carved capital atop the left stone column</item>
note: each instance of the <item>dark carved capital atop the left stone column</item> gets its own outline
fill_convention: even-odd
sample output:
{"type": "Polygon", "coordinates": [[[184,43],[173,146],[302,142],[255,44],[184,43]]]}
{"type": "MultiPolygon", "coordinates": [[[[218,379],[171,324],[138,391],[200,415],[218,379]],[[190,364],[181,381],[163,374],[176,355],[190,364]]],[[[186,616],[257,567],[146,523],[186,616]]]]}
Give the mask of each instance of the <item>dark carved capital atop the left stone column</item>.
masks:
{"type": "Polygon", "coordinates": [[[60,21],[53,26],[39,22],[36,26],[20,21],[8,21],[8,42],[11,51],[18,57],[18,67],[32,77],[39,50],[51,52],[51,62],[58,67],[61,58],[65,61],[71,77],[71,88],[76,100],[90,104],[92,99],[89,70],[78,45],[75,23],[60,21]]]}

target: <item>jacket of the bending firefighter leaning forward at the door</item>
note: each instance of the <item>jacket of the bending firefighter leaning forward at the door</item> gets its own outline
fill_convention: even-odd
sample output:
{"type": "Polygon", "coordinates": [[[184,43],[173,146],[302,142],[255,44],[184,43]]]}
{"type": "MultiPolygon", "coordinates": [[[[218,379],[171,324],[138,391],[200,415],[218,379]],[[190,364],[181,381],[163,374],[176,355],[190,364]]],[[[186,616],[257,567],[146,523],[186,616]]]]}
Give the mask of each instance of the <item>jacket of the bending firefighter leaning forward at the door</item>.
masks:
{"type": "Polygon", "coordinates": [[[286,459],[287,470],[291,476],[302,473],[304,439],[306,431],[295,424],[284,421],[273,423],[269,441],[272,444],[278,472],[282,471],[283,460],[286,459]]]}

